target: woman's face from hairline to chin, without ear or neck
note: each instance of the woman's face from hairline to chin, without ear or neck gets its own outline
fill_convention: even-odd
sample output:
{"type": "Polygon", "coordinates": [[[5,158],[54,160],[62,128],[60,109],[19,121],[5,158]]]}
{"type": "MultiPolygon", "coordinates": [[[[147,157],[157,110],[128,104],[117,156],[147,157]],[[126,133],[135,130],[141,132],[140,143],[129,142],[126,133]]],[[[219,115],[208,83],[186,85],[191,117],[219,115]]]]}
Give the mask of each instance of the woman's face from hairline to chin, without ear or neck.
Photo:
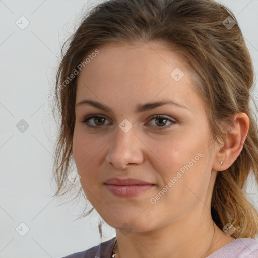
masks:
{"type": "Polygon", "coordinates": [[[192,88],[189,67],[161,42],[106,45],[80,72],[73,156],[110,226],[148,231],[210,213],[215,149],[192,88]]]}

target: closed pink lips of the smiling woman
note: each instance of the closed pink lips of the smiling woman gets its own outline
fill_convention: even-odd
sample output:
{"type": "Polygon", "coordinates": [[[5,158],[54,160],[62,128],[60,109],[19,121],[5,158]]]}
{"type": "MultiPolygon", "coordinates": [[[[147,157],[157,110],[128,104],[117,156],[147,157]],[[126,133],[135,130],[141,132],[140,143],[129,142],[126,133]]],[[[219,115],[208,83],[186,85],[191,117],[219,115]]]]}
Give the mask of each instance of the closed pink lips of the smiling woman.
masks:
{"type": "Polygon", "coordinates": [[[134,197],[154,187],[152,183],[143,182],[134,178],[110,178],[106,180],[104,184],[110,192],[120,197],[134,197]]]}

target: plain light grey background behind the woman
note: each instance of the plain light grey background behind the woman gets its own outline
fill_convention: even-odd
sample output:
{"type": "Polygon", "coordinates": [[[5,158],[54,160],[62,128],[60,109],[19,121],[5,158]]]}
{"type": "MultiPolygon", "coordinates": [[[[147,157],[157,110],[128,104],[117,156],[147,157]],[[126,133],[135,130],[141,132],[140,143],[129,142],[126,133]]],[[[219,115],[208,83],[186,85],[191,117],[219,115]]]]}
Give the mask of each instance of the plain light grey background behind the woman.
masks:
{"type": "MultiPolygon", "coordinates": [[[[60,46],[74,32],[83,10],[96,3],[0,0],[1,258],[62,257],[100,243],[96,213],[74,221],[83,211],[83,200],[58,206],[60,200],[52,197],[56,126],[46,98],[54,86],[60,46]],[[21,16],[29,21],[24,30],[16,25],[21,16]],[[23,133],[16,127],[22,119],[29,125],[23,133]],[[16,231],[22,222],[30,229],[25,236],[16,231]]],[[[258,1],[220,3],[236,15],[257,74],[258,1]]],[[[257,87],[252,96],[258,104],[257,87]]],[[[257,208],[256,186],[249,184],[248,192],[257,208]]],[[[115,236],[113,228],[103,228],[102,241],[115,236]]]]}

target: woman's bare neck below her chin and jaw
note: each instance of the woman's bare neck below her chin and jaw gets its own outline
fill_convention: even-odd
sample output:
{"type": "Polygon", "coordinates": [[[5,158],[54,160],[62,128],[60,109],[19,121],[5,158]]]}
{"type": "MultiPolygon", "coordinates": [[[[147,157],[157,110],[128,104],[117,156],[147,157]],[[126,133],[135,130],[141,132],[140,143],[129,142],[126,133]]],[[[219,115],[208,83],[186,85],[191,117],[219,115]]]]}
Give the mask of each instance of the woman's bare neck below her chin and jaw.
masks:
{"type": "Polygon", "coordinates": [[[183,218],[152,231],[132,231],[128,235],[116,229],[115,258],[205,258],[235,240],[222,232],[211,216],[192,221],[183,218]]]}

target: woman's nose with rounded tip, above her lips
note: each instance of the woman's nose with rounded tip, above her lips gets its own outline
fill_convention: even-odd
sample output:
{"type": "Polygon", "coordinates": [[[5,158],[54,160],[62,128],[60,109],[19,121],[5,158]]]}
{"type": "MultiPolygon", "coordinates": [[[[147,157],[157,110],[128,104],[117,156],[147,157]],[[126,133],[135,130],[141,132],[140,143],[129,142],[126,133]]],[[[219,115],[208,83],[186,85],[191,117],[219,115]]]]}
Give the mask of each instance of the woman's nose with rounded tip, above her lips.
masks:
{"type": "Polygon", "coordinates": [[[139,165],[144,160],[141,148],[144,144],[135,135],[134,127],[128,132],[117,128],[117,135],[110,143],[106,162],[118,169],[125,169],[128,165],[139,165]]]}

